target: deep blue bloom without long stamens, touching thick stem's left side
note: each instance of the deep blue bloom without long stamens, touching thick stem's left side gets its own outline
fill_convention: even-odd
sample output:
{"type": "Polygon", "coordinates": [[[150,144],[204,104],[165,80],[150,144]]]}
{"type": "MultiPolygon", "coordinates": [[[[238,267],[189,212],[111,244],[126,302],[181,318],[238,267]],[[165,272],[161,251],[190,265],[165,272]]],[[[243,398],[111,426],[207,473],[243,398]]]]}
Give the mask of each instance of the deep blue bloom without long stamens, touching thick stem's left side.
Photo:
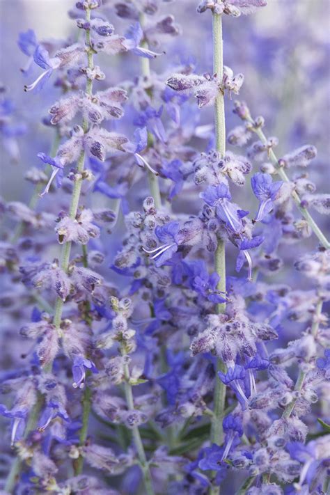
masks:
{"type": "Polygon", "coordinates": [[[203,260],[184,261],[183,265],[192,290],[196,290],[198,294],[212,303],[219,304],[226,301],[224,294],[221,295],[221,292],[217,290],[219,275],[217,272],[210,275],[203,260]]]}

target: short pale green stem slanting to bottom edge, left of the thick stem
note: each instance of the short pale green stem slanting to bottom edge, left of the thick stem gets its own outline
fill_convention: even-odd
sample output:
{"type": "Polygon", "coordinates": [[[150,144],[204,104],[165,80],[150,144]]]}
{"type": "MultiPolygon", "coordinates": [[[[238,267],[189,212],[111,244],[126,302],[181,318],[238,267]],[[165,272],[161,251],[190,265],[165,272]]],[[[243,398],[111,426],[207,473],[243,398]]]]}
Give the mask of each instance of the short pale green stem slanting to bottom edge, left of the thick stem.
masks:
{"type": "MultiPolygon", "coordinates": [[[[133,391],[132,391],[132,385],[129,384],[129,367],[127,364],[124,366],[124,373],[125,373],[125,398],[126,398],[126,403],[129,411],[134,411],[134,398],[133,398],[133,391]]],[[[139,457],[139,461],[141,464],[141,469],[143,472],[143,480],[144,480],[144,485],[146,487],[146,493],[148,495],[154,495],[154,490],[152,488],[152,480],[151,480],[151,475],[150,475],[150,469],[148,466],[148,461],[146,457],[146,453],[144,451],[141,435],[139,432],[139,427],[134,426],[132,428],[132,435],[133,435],[133,440],[134,440],[134,445],[139,457]]]]}

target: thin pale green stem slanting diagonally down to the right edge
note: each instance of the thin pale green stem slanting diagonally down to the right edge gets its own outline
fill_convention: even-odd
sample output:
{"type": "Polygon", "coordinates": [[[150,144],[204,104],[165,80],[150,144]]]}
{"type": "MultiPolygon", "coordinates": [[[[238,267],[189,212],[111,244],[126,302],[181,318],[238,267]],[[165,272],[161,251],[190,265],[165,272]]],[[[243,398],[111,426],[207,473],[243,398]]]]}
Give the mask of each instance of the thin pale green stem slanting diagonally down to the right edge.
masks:
{"type": "MultiPolygon", "coordinates": [[[[253,124],[253,119],[251,117],[247,118],[247,120],[249,120],[249,122],[253,124]]],[[[264,144],[267,143],[267,138],[264,132],[262,131],[261,127],[253,128],[253,130],[254,132],[256,132],[257,136],[259,137],[260,141],[262,141],[262,143],[264,144]]],[[[276,168],[276,172],[281,177],[281,179],[284,182],[290,182],[290,179],[288,178],[288,175],[286,175],[284,168],[278,164],[278,159],[273,150],[269,151],[269,158],[272,164],[274,165],[274,167],[276,168]]],[[[319,239],[322,246],[324,246],[326,249],[329,249],[330,242],[328,241],[327,237],[325,237],[324,233],[322,233],[322,230],[317,225],[317,223],[311,216],[310,212],[308,212],[306,208],[301,206],[301,198],[299,197],[299,194],[297,194],[296,191],[292,191],[291,196],[293,198],[294,203],[296,203],[299,212],[301,212],[302,216],[307,221],[308,225],[311,227],[313,233],[315,233],[317,239],[319,239]]]]}

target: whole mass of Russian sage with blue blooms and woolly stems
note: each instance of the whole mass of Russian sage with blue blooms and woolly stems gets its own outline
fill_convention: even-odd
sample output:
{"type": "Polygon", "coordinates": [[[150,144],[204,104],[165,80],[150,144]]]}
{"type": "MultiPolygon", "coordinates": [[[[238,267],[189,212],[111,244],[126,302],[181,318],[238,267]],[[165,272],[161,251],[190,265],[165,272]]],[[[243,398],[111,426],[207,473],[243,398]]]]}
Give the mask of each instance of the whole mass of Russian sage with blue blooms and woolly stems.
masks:
{"type": "MultiPolygon", "coordinates": [[[[179,1],[77,1],[68,40],[19,33],[26,98],[54,96],[40,113],[53,137],[25,174],[28,204],[1,201],[3,494],[329,489],[317,149],[276,152],[235,100],[249,78],[223,65],[239,65],[230,17],[267,1],[184,4],[180,26],[179,1]],[[187,22],[196,50],[207,23],[203,74],[167,53],[187,22]]],[[[19,162],[27,126],[1,89],[19,162]]]]}

